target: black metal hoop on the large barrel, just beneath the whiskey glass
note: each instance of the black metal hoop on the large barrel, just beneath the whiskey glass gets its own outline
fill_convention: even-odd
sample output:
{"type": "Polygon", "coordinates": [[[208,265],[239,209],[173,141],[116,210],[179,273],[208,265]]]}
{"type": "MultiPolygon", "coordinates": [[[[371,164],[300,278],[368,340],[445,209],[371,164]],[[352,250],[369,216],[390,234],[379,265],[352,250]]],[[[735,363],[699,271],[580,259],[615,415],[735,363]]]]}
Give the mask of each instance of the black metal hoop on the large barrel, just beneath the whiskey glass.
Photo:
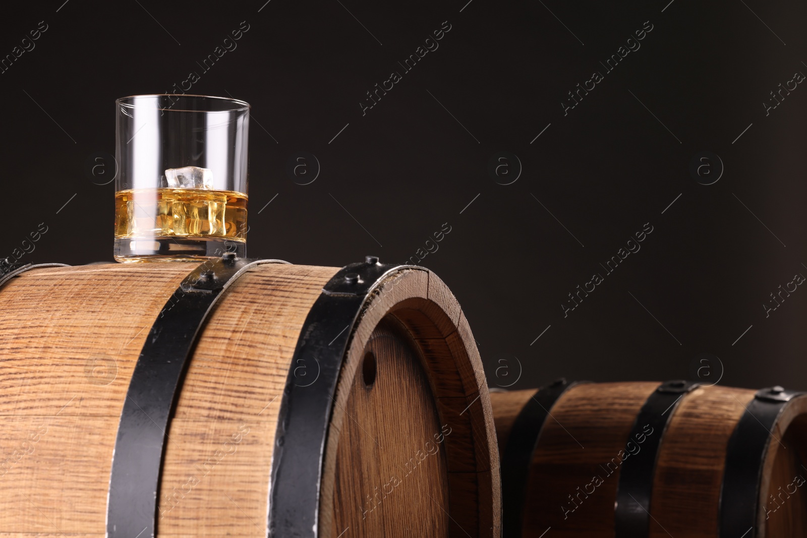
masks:
{"type": "Polygon", "coordinates": [[[216,300],[254,265],[232,252],[197,266],[165,303],[146,337],[120,415],[107,500],[107,538],[157,532],[165,437],[194,344],[216,300]]]}

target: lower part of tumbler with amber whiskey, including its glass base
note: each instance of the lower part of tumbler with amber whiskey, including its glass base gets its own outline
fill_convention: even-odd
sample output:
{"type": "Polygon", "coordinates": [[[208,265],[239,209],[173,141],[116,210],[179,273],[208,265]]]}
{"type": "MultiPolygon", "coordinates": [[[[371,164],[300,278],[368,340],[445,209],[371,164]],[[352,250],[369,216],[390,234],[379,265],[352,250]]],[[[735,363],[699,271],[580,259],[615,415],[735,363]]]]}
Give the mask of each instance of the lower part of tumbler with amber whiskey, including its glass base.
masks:
{"type": "Polygon", "coordinates": [[[230,190],[130,189],[115,193],[115,259],[194,260],[244,255],[247,195],[230,190]]]}

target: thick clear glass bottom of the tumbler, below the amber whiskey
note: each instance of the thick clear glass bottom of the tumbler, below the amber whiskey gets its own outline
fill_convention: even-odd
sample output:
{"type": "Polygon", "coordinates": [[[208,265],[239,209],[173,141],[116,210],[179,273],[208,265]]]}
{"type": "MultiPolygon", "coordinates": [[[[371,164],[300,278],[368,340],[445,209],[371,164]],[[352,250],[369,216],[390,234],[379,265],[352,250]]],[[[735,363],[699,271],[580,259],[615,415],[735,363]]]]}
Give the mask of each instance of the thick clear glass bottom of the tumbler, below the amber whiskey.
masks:
{"type": "Polygon", "coordinates": [[[115,261],[197,261],[235,252],[244,258],[246,243],[223,237],[127,237],[115,238],[115,261]]]}

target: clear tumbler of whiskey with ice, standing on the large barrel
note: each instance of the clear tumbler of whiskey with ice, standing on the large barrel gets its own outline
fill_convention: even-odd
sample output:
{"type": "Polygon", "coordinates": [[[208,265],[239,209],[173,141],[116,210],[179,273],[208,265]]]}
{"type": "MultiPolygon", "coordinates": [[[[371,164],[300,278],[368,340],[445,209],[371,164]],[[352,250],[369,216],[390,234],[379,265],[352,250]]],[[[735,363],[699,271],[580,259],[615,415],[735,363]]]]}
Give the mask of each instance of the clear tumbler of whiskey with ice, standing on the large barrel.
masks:
{"type": "Polygon", "coordinates": [[[160,94],[115,106],[115,260],[245,257],[249,104],[160,94]]]}

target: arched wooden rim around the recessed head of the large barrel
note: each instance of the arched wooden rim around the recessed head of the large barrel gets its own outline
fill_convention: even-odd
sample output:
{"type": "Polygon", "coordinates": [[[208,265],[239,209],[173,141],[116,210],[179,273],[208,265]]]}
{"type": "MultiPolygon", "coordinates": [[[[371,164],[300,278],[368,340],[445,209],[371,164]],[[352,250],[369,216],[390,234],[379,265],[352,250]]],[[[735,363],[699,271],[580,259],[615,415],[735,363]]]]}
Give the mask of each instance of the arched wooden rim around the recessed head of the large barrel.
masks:
{"type": "MultiPolygon", "coordinates": [[[[415,343],[436,398],[439,422],[449,428],[442,442],[449,496],[448,504],[440,507],[451,515],[448,536],[499,536],[499,459],[482,361],[456,299],[436,275],[422,269],[389,275],[366,304],[353,332],[325,448],[321,503],[333,503],[337,453],[341,436],[350,427],[345,407],[366,343],[386,316],[403,326],[415,343]]],[[[337,521],[328,511],[322,515],[323,536],[338,536],[342,528],[337,521]]]]}

